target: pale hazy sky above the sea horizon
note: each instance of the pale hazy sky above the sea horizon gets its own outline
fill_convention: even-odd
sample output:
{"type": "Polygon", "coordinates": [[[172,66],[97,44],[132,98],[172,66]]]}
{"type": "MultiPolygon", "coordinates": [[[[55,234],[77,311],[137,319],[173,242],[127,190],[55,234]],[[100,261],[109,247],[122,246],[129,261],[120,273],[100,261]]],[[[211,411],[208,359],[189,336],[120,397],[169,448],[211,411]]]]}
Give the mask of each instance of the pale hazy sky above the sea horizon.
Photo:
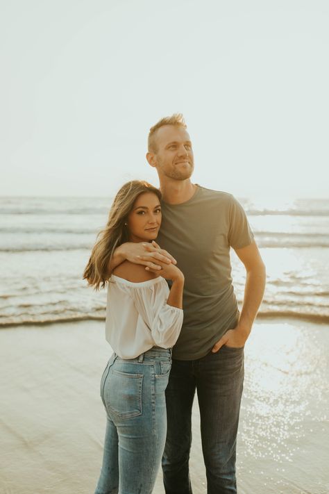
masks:
{"type": "Polygon", "coordinates": [[[183,113],[193,181],[329,197],[327,0],[0,4],[0,195],[158,185],[150,127],[183,113]]]}

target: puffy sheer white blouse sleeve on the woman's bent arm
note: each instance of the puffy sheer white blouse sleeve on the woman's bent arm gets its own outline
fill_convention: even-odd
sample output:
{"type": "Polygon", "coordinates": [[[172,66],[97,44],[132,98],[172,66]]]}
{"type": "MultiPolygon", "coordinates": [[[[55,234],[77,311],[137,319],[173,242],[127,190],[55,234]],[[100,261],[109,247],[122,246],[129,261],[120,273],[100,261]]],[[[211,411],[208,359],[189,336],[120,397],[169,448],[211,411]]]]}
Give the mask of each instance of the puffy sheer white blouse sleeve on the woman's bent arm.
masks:
{"type": "Polygon", "coordinates": [[[167,304],[166,290],[161,283],[130,289],[137,312],[149,327],[155,345],[162,348],[175,345],[183,324],[183,309],[167,304]]]}

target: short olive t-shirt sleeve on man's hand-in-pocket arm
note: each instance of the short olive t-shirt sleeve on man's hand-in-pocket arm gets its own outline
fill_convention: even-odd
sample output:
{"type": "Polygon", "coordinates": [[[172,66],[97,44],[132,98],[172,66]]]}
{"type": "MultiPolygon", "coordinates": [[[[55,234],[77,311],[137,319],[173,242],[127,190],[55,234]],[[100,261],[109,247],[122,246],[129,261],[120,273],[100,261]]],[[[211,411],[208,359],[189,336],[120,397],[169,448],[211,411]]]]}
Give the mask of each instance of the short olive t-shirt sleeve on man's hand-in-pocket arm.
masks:
{"type": "Polygon", "coordinates": [[[253,232],[242,205],[232,196],[229,210],[228,243],[233,249],[242,249],[253,242],[253,232]]]}

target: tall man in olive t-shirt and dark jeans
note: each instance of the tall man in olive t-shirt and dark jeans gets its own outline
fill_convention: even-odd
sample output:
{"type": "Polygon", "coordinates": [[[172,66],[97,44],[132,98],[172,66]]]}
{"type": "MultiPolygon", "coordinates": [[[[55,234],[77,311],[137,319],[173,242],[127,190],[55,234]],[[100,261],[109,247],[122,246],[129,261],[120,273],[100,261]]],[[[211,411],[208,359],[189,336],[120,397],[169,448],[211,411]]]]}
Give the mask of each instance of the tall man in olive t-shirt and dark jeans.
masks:
{"type": "Polygon", "coordinates": [[[126,258],[154,272],[162,263],[177,261],[185,275],[184,323],[166,391],[165,492],[192,493],[188,461],[196,391],[208,494],[236,493],[244,344],[264,293],[264,263],[236,199],[191,182],[194,156],[183,115],[166,117],[151,128],[146,159],[160,180],[161,249],[157,244],[121,245],[110,270],[126,258]],[[246,268],[241,313],[230,276],[231,247],[246,268]]]}

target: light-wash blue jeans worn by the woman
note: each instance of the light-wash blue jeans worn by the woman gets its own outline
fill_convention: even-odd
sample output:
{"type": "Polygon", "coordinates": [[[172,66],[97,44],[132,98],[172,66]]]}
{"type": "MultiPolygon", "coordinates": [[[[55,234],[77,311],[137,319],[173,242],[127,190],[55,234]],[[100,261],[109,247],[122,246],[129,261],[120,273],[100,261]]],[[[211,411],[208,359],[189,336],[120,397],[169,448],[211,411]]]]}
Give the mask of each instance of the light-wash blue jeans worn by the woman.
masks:
{"type": "Polygon", "coordinates": [[[171,349],[136,359],[113,354],[101,378],[107,425],[95,494],[151,494],[167,433],[165,389],[171,349]]]}

